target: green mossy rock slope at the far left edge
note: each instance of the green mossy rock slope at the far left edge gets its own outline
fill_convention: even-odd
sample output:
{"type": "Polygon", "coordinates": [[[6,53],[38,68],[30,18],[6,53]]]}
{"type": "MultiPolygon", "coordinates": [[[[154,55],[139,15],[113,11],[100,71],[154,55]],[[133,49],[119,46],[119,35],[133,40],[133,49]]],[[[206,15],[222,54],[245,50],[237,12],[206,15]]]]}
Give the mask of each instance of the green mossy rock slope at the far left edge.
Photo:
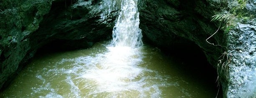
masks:
{"type": "Polygon", "coordinates": [[[0,3],[0,87],[15,74],[20,61],[30,50],[28,35],[38,29],[42,15],[51,7],[47,1],[29,3],[29,0],[3,0],[0,3]]]}

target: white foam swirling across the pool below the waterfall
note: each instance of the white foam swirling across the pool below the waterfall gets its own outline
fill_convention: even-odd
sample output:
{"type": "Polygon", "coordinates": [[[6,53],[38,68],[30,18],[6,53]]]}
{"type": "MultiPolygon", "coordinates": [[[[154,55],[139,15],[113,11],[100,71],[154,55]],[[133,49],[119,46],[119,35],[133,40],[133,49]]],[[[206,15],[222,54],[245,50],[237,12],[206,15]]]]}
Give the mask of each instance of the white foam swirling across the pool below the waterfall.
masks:
{"type": "Polygon", "coordinates": [[[61,59],[54,66],[44,68],[44,75],[36,75],[41,83],[32,88],[32,96],[156,98],[161,97],[160,87],[174,85],[167,82],[169,76],[145,67],[142,48],[106,48],[97,55],[61,59]],[[59,82],[51,84],[54,78],[58,78],[59,82]]]}

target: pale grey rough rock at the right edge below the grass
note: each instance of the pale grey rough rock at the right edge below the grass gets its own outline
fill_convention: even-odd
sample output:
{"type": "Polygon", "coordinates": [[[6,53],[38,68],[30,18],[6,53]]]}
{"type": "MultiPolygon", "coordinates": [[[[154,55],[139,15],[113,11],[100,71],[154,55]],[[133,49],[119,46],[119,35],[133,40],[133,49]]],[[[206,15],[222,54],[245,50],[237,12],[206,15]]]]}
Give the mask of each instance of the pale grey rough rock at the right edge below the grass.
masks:
{"type": "Polygon", "coordinates": [[[228,53],[232,54],[230,60],[230,78],[227,96],[230,98],[253,98],[256,96],[256,23],[249,20],[237,23],[235,29],[229,32],[228,53]],[[240,51],[232,47],[240,48],[240,51]]]}

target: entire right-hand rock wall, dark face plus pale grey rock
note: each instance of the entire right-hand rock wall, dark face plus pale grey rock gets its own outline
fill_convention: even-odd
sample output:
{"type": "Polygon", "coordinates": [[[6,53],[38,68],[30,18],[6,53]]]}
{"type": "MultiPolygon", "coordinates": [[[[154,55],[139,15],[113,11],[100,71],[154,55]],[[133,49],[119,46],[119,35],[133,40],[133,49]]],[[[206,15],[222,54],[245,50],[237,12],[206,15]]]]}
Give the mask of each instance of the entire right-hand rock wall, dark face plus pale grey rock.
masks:
{"type": "MultiPolygon", "coordinates": [[[[210,21],[213,15],[225,13],[225,8],[232,9],[233,2],[237,1],[139,0],[140,28],[149,43],[171,53],[176,45],[188,41],[197,44],[218,72],[224,98],[253,98],[256,96],[255,20],[237,23],[229,33],[218,30],[222,27],[220,23],[210,21]]],[[[255,3],[248,0],[244,11],[255,16],[255,3]]]]}

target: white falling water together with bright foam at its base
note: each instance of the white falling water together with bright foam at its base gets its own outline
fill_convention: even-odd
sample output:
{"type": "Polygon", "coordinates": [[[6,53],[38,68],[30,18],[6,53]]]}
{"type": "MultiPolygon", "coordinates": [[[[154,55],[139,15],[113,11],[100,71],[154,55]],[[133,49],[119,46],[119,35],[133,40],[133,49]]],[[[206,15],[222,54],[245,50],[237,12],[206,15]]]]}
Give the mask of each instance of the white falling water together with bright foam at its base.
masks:
{"type": "Polygon", "coordinates": [[[100,63],[92,64],[82,75],[86,80],[97,84],[88,95],[101,93],[113,98],[160,96],[161,84],[154,84],[155,79],[146,83],[148,78],[142,77],[144,73],[156,72],[138,66],[143,63],[142,34],[138,27],[137,0],[122,0],[118,21],[113,28],[113,40],[107,47],[109,52],[97,55],[94,60],[99,59],[100,63]]]}

